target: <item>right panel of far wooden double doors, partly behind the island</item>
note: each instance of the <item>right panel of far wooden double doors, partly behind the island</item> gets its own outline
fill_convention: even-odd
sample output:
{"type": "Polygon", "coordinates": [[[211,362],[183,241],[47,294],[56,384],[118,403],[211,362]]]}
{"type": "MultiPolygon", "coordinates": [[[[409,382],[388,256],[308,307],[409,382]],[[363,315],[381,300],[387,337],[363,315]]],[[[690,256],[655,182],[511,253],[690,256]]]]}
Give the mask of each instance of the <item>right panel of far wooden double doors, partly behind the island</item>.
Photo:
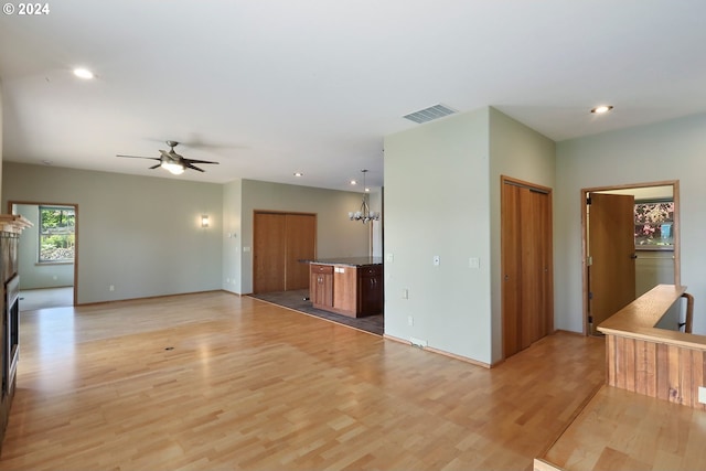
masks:
{"type": "Polygon", "coordinates": [[[309,264],[317,253],[317,216],[313,214],[286,215],[285,290],[309,288],[309,264]]]}

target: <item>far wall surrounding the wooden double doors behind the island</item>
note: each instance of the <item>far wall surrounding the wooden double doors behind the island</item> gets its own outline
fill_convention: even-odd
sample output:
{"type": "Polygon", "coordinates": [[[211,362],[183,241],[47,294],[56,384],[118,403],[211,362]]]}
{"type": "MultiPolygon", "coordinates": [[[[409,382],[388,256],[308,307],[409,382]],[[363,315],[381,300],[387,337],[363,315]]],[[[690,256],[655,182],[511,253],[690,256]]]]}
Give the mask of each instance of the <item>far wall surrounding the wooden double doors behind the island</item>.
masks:
{"type": "MultiPolygon", "coordinates": [[[[370,253],[370,225],[349,220],[361,206],[362,193],[310,186],[242,181],[239,238],[240,293],[253,292],[253,214],[255,210],[317,214],[317,257],[360,257],[370,253]],[[246,249],[250,250],[247,251],[246,249]]],[[[373,207],[373,211],[379,208],[373,207]]]]}

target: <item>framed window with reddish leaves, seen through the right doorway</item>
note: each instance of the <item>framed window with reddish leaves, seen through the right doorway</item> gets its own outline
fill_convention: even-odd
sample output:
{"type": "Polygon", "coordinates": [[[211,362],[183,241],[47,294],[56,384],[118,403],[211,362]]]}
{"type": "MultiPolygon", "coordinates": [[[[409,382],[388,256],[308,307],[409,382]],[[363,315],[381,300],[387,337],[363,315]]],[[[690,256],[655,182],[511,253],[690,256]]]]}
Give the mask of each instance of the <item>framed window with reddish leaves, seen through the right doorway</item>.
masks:
{"type": "Polygon", "coordinates": [[[635,202],[635,247],[674,248],[674,201],[635,202]]]}

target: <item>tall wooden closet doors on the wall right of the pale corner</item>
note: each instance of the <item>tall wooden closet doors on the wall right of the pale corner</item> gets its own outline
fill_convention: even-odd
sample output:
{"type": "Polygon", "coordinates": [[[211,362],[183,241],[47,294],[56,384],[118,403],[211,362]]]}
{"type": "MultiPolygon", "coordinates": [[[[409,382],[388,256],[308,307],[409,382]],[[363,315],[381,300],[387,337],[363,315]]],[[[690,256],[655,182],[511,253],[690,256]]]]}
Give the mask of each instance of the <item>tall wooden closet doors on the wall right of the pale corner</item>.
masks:
{"type": "Polygon", "coordinates": [[[511,356],[554,329],[552,193],[503,180],[503,353],[511,356]]]}

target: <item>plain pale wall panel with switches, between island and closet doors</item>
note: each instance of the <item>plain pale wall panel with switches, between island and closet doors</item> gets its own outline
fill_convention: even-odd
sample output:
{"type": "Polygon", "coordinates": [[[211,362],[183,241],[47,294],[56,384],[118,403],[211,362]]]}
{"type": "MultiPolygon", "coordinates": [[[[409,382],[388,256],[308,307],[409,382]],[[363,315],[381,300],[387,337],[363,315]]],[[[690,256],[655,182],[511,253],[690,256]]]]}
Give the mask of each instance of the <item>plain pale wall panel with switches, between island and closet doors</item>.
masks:
{"type": "Polygon", "coordinates": [[[488,129],[484,108],[385,138],[385,333],[482,363],[491,362],[488,129]]]}

